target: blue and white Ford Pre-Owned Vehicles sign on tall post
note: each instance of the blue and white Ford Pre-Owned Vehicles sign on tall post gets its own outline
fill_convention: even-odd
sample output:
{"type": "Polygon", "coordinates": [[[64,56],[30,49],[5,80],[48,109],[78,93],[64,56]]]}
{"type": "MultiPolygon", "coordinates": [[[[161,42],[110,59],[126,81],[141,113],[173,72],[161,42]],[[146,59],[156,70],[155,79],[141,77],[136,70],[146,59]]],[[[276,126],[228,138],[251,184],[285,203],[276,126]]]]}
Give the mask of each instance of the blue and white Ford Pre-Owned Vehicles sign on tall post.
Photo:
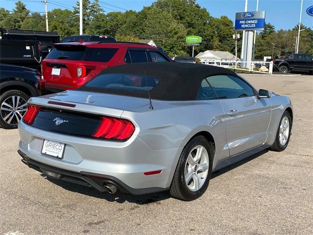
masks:
{"type": "Polygon", "coordinates": [[[265,11],[236,13],[235,30],[263,30],[265,11]]]}

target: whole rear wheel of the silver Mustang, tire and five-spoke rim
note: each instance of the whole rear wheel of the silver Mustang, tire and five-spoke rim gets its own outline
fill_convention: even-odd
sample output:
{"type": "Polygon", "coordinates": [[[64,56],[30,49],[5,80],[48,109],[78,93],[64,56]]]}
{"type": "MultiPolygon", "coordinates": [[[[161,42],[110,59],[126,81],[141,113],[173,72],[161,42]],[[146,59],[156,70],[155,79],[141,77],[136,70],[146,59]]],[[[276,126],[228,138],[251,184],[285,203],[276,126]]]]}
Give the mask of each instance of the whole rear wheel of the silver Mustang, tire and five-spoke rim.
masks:
{"type": "Polygon", "coordinates": [[[170,194],[183,201],[199,198],[209,185],[213,144],[197,136],[185,146],[173,177],[170,194]]]}

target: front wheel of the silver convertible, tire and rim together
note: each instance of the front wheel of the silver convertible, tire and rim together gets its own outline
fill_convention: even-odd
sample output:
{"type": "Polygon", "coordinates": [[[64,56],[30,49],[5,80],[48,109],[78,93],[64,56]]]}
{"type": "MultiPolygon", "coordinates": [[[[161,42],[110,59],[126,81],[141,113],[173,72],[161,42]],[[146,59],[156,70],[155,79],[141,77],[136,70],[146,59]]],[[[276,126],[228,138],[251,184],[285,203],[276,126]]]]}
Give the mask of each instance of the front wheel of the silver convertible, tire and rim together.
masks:
{"type": "Polygon", "coordinates": [[[275,141],[269,148],[272,151],[280,152],[287,148],[290,140],[292,120],[288,111],[285,111],[280,119],[275,141]]]}

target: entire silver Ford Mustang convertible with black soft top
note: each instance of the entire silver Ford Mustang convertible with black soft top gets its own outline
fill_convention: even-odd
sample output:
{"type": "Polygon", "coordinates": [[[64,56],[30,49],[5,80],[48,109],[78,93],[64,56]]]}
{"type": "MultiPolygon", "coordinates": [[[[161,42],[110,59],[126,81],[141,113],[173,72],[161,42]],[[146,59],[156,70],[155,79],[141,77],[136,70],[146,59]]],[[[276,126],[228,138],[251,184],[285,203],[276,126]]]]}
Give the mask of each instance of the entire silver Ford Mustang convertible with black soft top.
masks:
{"type": "Polygon", "coordinates": [[[185,63],[106,69],[79,90],[32,97],[19,123],[22,162],[99,191],[200,197],[212,171],[284,150],[293,111],[233,71],[185,63]]]}

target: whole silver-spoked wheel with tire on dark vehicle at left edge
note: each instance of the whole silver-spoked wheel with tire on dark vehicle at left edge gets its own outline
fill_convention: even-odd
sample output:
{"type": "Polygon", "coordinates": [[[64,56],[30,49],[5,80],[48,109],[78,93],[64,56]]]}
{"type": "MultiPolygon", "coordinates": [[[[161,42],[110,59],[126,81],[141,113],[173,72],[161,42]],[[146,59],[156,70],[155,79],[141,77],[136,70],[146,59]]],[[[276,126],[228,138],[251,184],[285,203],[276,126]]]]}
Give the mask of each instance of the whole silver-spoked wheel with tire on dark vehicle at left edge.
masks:
{"type": "Polygon", "coordinates": [[[5,129],[18,127],[27,111],[28,95],[18,91],[7,91],[0,96],[0,125],[5,129]]]}

